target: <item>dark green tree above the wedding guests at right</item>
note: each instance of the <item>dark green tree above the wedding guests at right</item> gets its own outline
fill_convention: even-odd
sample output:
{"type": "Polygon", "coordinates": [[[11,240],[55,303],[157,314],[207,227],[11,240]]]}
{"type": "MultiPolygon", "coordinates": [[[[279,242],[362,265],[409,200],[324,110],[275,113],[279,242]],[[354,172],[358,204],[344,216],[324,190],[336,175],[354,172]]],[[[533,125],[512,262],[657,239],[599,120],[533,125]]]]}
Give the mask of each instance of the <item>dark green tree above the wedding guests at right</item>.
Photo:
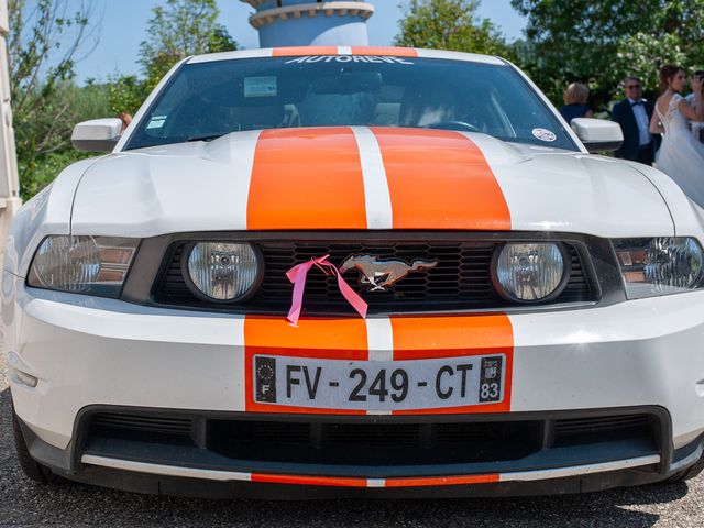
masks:
{"type": "Polygon", "coordinates": [[[512,0],[528,16],[530,59],[521,64],[556,100],[565,84],[586,82],[608,101],[626,75],[651,92],[657,70],[671,61],[704,61],[704,0],[512,0]]]}

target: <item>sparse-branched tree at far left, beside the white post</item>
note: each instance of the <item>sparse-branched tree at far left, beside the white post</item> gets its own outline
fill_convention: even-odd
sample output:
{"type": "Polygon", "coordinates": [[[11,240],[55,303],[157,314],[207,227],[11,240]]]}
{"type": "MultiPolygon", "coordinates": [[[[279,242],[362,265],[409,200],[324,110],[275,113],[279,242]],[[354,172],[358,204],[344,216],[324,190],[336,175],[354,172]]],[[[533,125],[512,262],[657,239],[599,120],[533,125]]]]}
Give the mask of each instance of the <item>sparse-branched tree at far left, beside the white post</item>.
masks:
{"type": "Polygon", "coordinates": [[[74,65],[97,44],[94,0],[10,0],[9,62],[14,131],[24,197],[38,190],[34,173],[69,147],[80,118],[74,65]],[[32,189],[29,190],[28,189],[32,189]]]}

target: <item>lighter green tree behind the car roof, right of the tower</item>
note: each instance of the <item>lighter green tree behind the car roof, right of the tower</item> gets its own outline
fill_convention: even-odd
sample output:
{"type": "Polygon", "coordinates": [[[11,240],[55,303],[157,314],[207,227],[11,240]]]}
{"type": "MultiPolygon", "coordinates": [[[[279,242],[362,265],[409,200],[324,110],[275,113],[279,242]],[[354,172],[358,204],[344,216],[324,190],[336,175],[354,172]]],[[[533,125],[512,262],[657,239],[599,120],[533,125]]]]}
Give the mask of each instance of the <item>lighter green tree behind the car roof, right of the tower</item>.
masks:
{"type": "Polygon", "coordinates": [[[410,0],[399,22],[399,46],[513,56],[501,32],[480,20],[479,0],[410,0]]]}

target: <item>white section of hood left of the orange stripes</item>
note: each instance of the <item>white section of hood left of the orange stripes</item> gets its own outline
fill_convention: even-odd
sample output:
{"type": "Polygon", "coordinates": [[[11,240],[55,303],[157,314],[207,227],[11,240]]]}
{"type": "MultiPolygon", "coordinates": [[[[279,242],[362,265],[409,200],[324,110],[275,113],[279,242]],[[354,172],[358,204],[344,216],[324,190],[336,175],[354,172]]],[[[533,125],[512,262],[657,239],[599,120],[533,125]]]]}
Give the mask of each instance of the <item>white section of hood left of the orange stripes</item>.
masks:
{"type": "Polygon", "coordinates": [[[240,132],[238,141],[114,154],[110,164],[88,170],[78,187],[73,233],[144,238],[178,231],[246,230],[258,134],[240,132]]]}

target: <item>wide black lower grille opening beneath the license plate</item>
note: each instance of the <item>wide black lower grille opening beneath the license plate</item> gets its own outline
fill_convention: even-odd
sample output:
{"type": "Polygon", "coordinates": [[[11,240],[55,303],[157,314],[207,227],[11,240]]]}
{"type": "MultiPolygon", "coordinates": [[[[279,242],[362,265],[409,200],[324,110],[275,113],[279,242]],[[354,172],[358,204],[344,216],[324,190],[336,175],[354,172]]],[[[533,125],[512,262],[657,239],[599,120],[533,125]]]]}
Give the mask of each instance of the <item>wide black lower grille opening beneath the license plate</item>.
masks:
{"type": "Polygon", "coordinates": [[[657,442],[660,435],[661,424],[651,414],[566,415],[547,419],[448,416],[378,421],[372,417],[316,420],[99,411],[84,418],[81,430],[82,449],[94,452],[136,442],[198,447],[237,461],[352,466],[496,463],[552,448],[657,442]]]}

